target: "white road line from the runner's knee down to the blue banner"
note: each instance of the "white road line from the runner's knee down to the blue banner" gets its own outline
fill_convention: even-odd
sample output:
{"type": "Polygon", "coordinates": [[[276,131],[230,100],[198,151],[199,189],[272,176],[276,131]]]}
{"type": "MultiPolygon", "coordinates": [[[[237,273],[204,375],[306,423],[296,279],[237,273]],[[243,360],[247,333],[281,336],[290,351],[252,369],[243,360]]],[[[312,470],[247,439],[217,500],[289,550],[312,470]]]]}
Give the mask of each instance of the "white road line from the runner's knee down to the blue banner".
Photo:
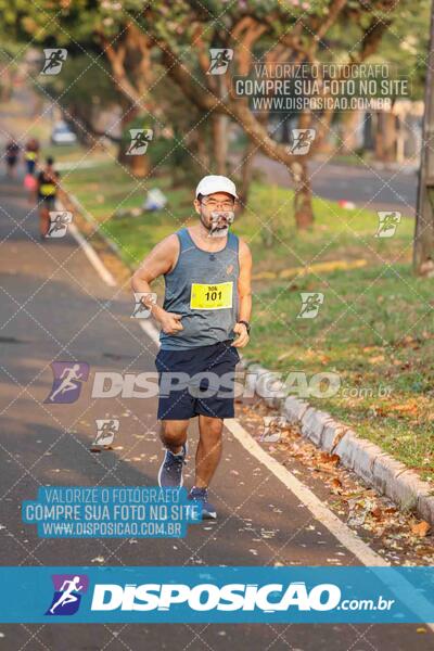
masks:
{"type": "Polygon", "coordinates": [[[271,455],[266,452],[235,419],[231,418],[225,420],[225,425],[237,441],[241,443],[255,459],[264,463],[264,465],[266,465],[266,468],[309,509],[312,515],[321,522],[348,551],[354,553],[363,565],[378,567],[390,565],[388,561],[383,559],[363,542],[357,534],[344,524],[337,515],[330,511],[330,509],[305,484],[297,480],[292,472],[273,459],[271,455]]]}

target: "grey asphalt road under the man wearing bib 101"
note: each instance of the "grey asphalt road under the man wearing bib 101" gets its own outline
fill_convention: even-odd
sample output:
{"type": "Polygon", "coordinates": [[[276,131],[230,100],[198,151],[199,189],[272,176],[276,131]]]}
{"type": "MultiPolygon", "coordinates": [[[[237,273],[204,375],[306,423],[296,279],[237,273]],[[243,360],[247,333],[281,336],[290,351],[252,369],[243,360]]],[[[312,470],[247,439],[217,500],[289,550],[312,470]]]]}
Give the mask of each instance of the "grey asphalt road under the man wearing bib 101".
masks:
{"type": "MultiPolygon", "coordinates": [[[[184,539],[42,539],[21,522],[40,485],[155,485],[162,447],[155,399],[94,399],[95,371],[154,370],[156,346],[130,319],[128,292],[108,288],[74,238],[40,243],[20,183],[0,184],[1,545],[3,565],[360,564],[270,470],[227,431],[212,499],[219,520],[184,539]],[[86,361],[71,405],[50,405],[52,360],[86,361]],[[118,418],[114,449],[93,454],[97,418],[118,418]],[[312,525],[315,525],[312,527],[312,525]],[[272,532],[271,537],[264,531],[272,532]]],[[[191,438],[196,437],[192,427],[191,438]]],[[[192,463],[186,484],[191,485],[192,463]]],[[[0,649],[139,651],[420,651],[417,625],[0,625],[0,649]]]]}

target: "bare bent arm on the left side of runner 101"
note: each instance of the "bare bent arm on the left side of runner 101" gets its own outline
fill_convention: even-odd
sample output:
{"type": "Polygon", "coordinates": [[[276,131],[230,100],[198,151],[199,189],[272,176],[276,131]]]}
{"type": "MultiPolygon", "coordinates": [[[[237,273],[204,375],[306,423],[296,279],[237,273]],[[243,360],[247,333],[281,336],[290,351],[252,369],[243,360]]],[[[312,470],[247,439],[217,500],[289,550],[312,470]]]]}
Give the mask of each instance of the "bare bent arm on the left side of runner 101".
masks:
{"type": "MultiPolygon", "coordinates": [[[[151,253],[142,260],[131,279],[132,291],[150,294],[150,283],[159,276],[168,273],[174,268],[178,255],[179,240],[174,233],[156,244],[151,253]]],[[[180,323],[181,317],[179,315],[168,312],[159,305],[146,305],[146,307],[151,309],[152,316],[161,323],[163,331],[167,334],[174,334],[175,332],[182,330],[180,323]]]]}

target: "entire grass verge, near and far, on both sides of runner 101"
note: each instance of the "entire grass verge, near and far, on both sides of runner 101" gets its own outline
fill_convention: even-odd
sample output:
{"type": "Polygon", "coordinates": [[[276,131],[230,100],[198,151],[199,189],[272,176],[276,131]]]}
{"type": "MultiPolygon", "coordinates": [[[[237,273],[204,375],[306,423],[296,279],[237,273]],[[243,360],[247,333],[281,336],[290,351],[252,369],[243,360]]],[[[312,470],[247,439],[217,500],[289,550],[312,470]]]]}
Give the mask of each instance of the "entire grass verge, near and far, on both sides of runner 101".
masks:
{"type": "MultiPolygon", "coordinates": [[[[65,173],[63,183],[135,266],[194,218],[192,189],[174,189],[167,171],[140,181],[108,158],[97,168],[65,173]],[[166,210],[113,217],[119,207],[140,206],[154,187],[168,196],[166,210]]],[[[367,266],[255,282],[245,356],[283,374],[337,373],[337,394],[309,401],[434,481],[434,280],[411,275],[413,221],[403,218],[393,238],[375,238],[376,214],[316,199],[314,228],[297,232],[292,199],[290,190],[255,182],[247,209],[235,219],[234,232],[252,247],[255,273],[327,260],[365,259],[367,266]],[[315,319],[297,318],[304,291],[324,294],[315,319]],[[381,394],[385,387],[387,395],[381,394]]]]}

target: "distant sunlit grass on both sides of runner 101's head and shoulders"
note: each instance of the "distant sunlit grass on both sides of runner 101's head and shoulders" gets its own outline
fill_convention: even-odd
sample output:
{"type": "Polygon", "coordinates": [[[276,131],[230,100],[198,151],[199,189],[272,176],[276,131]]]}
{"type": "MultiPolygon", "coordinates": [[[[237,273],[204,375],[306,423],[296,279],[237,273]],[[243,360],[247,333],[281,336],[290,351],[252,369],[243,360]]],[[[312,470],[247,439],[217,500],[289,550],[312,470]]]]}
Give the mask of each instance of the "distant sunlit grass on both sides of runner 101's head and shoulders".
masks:
{"type": "MultiPolygon", "coordinates": [[[[66,171],[63,183],[71,189],[104,230],[126,246],[128,259],[139,261],[163,237],[194,216],[191,188],[171,188],[169,176],[135,179],[111,158],[101,167],[66,171]],[[161,188],[168,207],[144,217],[113,219],[119,208],[140,206],[150,188],[161,188]]],[[[403,219],[394,238],[375,238],[376,215],[346,210],[332,201],[314,200],[312,230],[297,232],[291,190],[255,183],[247,209],[235,219],[234,232],[248,240],[255,273],[279,272],[288,267],[336,259],[365,258],[372,264],[409,259],[412,221],[403,219]]]]}

